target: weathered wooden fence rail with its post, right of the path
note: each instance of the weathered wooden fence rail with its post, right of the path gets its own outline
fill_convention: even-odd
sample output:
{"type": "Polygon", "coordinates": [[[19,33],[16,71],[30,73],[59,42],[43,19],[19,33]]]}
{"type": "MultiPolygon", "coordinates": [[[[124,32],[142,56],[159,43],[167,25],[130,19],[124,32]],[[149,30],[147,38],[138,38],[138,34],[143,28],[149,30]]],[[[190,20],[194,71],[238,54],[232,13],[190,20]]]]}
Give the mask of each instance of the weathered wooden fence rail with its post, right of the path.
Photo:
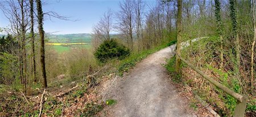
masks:
{"type": "Polygon", "coordinates": [[[237,99],[236,109],[234,110],[234,117],[243,117],[243,116],[245,116],[246,100],[247,100],[246,96],[242,96],[241,94],[238,94],[238,93],[234,92],[233,90],[230,90],[226,86],[218,83],[216,80],[209,77],[203,71],[197,69],[195,66],[193,66],[193,64],[189,63],[184,58],[181,58],[179,55],[176,55],[176,57],[179,57],[184,63],[186,63],[189,67],[191,67],[193,70],[195,70],[197,73],[199,73],[205,79],[207,79],[210,83],[212,83],[213,85],[217,86],[218,88],[220,88],[224,92],[228,93],[230,96],[237,99]]]}

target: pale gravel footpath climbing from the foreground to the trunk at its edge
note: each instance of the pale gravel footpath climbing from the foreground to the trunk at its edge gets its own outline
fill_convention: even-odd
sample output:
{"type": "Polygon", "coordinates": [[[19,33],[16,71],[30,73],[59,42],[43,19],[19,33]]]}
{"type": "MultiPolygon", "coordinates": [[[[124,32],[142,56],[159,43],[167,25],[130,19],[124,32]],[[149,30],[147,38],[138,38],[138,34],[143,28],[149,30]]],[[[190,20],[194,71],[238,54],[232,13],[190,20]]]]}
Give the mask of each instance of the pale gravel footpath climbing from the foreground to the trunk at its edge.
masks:
{"type": "Polygon", "coordinates": [[[196,116],[168,79],[163,64],[174,55],[166,47],[138,63],[127,75],[112,80],[104,99],[117,99],[108,116],[196,116]],[[192,112],[192,113],[191,113],[192,112]]]}

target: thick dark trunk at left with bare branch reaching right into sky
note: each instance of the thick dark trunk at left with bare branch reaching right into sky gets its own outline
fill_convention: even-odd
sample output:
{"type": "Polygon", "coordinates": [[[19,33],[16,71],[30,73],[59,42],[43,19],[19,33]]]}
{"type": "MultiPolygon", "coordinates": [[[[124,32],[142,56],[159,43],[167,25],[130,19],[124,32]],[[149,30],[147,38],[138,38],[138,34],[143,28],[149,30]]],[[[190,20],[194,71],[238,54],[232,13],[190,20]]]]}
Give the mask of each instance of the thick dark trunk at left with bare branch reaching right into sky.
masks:
{"type": "Polygon", "coordinates": [[[43,79],[44,79],[44,88],[47,88],[46,61],[45,61],[45,51],[44,51],[43,10],[42,10],[42,4],[40,0],[36,0],[36,6],[38,10],[38,31],[39,31],[40,40],[41,40],[40,61],[41,61],[43,79]]]}

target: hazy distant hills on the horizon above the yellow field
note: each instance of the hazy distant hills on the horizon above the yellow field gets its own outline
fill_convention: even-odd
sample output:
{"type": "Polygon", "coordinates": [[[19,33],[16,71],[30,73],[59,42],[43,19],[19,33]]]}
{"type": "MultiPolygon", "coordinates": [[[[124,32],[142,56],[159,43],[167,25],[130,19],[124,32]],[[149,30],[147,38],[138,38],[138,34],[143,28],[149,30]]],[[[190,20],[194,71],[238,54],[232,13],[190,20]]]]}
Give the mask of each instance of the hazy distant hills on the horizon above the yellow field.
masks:
{"type": "Polygon", "coordinates": [[[90,43],[92,35],[88,33],[79,34],[47,34],[46,38],[51,43],[90,43]]]}

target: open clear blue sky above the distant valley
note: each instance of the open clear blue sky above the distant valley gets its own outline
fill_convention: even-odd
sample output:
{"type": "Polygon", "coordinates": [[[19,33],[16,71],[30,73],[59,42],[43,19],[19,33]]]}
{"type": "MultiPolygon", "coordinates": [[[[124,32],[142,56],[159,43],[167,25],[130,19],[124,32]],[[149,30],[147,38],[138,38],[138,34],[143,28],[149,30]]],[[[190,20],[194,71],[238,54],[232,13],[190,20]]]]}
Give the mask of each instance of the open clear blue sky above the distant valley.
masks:
{"type": "MultiPolygon", "coordinates": [[[[1,0],[0,0],[1,1],[1,0]]],[[[122,0],[44,0],[47,4],[43,11],[55,11],[61,16],[67,16],[67,21],[48,18],[44,20],[44,30],[53,34],[68,33],[92,33],[92,27],[100,20],[102,14],[111,8],[112,11],[119,10],[119,2],[122,0]]],[[[152,0],[147,2],[153,2],[152,0]]],[[[7,27],[9,21],[0,11],[0,27],[7,27]]]]}

